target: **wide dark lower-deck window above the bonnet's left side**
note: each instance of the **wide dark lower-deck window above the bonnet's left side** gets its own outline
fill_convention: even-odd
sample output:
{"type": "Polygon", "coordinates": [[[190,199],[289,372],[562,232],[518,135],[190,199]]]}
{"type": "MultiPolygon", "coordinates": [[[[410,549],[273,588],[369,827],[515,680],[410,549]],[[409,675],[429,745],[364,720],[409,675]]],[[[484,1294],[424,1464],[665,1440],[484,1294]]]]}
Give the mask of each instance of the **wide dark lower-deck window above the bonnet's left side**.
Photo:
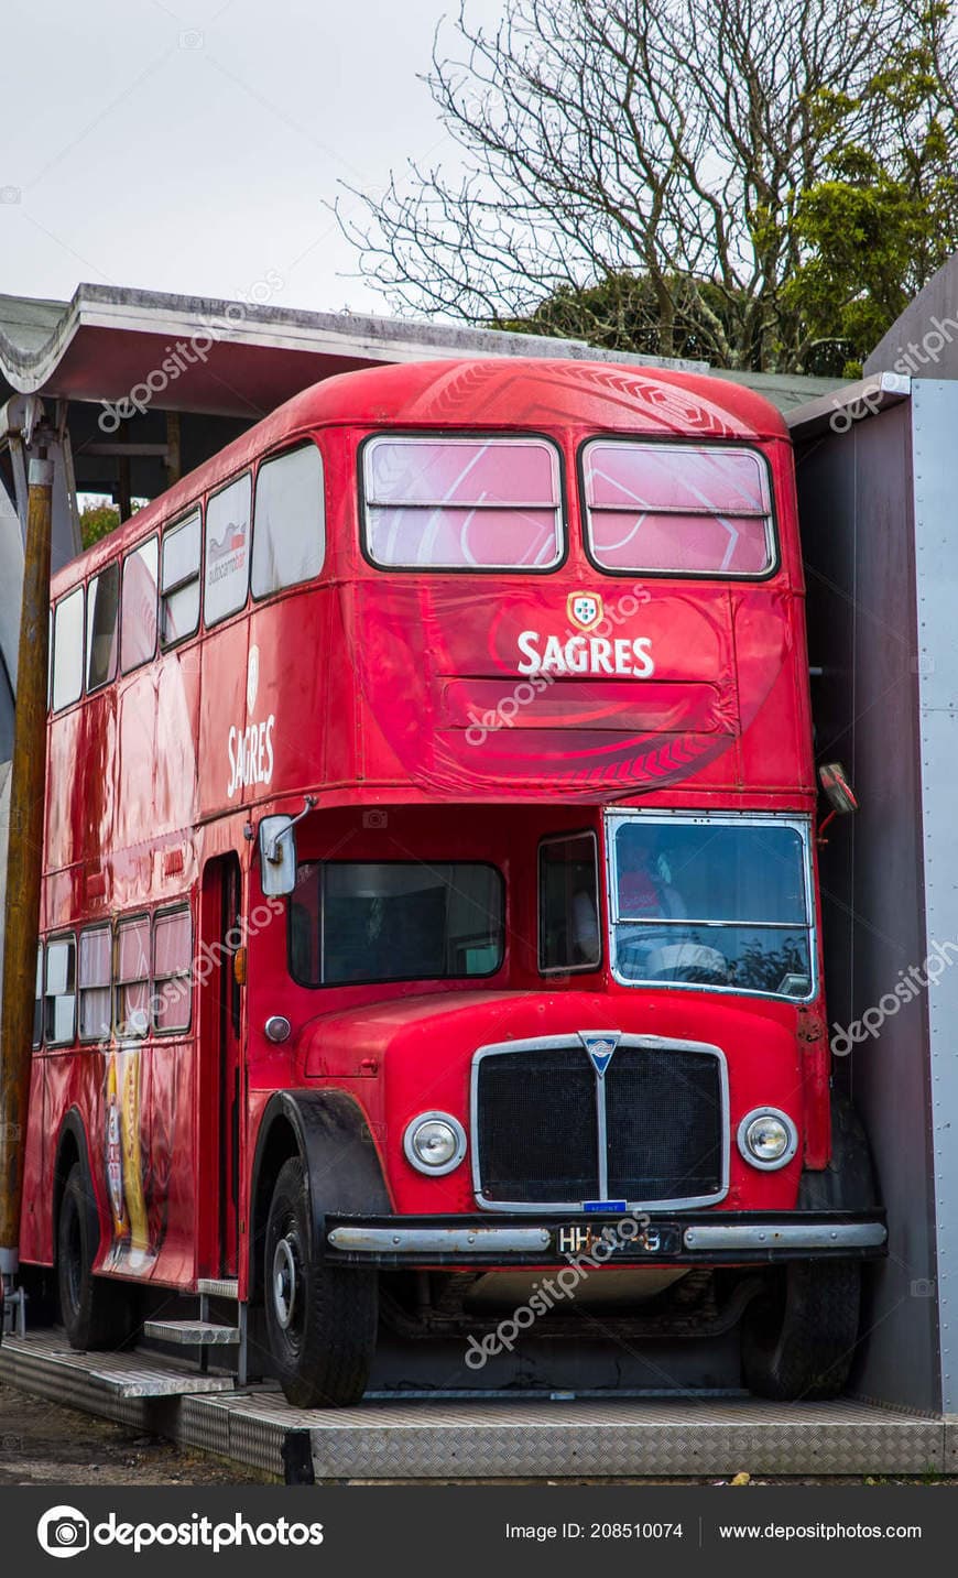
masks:
{"type": "Polygon", "coordinates": [[[289,901],[289,961],[303,986],[492,975],[503,956],[494,866],[306,862],[289,901]]]}

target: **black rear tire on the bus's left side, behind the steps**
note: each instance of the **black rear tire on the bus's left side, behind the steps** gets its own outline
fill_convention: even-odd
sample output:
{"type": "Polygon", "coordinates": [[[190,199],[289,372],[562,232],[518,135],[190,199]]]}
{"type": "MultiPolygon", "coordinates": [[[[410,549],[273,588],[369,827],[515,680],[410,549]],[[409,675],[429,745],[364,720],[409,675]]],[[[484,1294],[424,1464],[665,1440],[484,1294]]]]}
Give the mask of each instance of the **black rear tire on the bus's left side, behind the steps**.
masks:
{"type": "Polygon", "coordinates": [[[74,1161],[57,1217],[57,1288],[69,1346],[80,1352],[126,1348],[136,1335],[133,1288],[93,1275],[98,1247],[96,1201],[74,1161]]]}

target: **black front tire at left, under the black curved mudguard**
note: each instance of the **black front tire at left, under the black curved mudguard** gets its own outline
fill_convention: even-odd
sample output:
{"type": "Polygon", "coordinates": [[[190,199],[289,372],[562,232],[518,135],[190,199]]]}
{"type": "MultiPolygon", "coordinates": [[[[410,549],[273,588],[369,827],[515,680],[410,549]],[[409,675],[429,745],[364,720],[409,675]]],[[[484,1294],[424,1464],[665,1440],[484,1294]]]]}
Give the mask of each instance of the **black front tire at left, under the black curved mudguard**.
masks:
{"type": "Polygon", "coordinates": [[[273,1188],[264,1288],[270,1356],[287,1403],[358,1403],[376,1354],[379,1280],[371,1270],[317,1262],[309,1182],[298,1157],[283,1163],[273,1188]]]}

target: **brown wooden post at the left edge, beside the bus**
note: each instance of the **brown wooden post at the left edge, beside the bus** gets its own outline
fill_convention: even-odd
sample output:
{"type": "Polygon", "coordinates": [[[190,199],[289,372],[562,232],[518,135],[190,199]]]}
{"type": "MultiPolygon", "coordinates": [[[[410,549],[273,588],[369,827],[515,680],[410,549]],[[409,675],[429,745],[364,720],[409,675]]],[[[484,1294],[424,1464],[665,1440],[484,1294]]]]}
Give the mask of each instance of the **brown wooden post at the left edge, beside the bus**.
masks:
{"type": "Polygon", "coordinates": [[[19,1267],[46,797],[54,464],[30,461],[0,1018],[0,1272],[19,1267]]]}

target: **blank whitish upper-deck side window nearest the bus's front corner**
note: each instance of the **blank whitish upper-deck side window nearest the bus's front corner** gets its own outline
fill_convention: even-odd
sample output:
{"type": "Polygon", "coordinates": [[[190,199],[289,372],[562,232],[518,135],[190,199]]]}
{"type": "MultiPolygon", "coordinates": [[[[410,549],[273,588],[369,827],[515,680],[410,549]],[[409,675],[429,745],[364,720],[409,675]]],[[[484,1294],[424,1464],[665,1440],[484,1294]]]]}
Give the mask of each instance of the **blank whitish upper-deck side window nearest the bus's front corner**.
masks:
{"type": "Polygon", "coordinates": [[[322,456],[314,443],[259,469],[253,516],[253,596],[309,581],[325,559],[322,456]]]}

